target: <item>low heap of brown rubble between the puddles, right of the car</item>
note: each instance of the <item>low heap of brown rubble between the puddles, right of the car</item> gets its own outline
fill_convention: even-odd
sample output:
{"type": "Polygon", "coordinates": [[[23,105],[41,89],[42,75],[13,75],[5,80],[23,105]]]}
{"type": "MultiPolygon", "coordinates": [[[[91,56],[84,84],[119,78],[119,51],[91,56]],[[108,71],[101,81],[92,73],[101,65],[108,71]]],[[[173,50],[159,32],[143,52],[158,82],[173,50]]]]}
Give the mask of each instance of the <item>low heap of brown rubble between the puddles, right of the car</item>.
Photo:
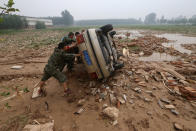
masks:
{"type": "MultiPolygon", "coordinates": [[[[119,40],[116,40],[116,42],[119,42],[119,40]]],[[[124,41],[123,43],[119,44],[121,48],[128,48],[131,53],[134,54],[141,54],[145,56],[152,55],[153,52],[159,52],[159,53],[167,53],[172,56],[186,56],[186,54],[183,54],[172,47],[164,47],[163,43],[168,43],[169,40],[166,38],[156,37],[153,35],[145,35],[143,37],[138,37],[137,39],[132,39],[124,41]]]]}

